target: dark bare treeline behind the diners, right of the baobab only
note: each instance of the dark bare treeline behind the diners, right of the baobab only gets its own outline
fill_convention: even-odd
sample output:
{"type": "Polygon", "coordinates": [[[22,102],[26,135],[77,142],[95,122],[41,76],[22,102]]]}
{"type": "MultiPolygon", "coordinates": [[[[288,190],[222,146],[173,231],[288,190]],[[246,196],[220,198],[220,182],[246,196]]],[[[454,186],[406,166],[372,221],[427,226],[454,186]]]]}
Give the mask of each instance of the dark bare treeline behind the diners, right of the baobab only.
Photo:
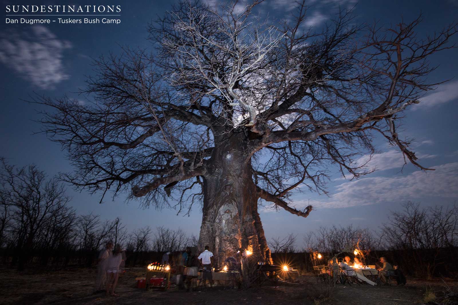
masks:
{"type": "Polygon", "coordinates": [[[456,205],[421,208],[418,203],[402,204],[391,212],[379,230],[368,228],[320,227],[304,237],[305,256],[296,252],[297,235],[273,238],[270,247],[277,261],[291,261],[311,271],[313,265],[327,264],[329,258],[358,256],[367,265],[380,257],[418,277],[458,275],[458,209],[456,205]],[[357,250],[357,255],[354,251],[357,250]],[[318,258],[321,254],[321,258],[318,258]]]}

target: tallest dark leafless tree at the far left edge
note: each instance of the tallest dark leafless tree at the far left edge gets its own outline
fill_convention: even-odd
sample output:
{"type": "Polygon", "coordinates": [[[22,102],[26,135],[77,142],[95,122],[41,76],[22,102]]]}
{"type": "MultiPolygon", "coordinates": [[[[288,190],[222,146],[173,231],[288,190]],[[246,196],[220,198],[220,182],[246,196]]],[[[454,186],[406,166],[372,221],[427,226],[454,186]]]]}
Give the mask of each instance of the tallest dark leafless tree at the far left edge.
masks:
{"type": "Polygon", "coordinates": [[[14,223],[11,226],[16,241],[13,263],[17,262],[18,268],[23,269],[40,235],[58,233],[56,230],[66,218],[74,219],[74,211],[66,206],[70,198],[64,186],[56,179],[47,179],[37,166],[16,168],[3,158],[0,163],[1,203],[9,209],[14,223]]]}

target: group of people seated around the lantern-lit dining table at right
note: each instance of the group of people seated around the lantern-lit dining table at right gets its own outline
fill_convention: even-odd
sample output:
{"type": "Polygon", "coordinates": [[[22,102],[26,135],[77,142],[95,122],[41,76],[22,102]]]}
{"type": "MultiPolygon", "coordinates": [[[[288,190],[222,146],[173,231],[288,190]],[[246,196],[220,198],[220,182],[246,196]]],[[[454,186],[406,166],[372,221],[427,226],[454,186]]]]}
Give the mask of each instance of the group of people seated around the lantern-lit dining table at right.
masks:
{"type": "Polygon", "coordinates": [[[358,257],[354,257],[353,261],[349,256],[344,257],[344,259],[338,259],[337,257],[330,259],[328,263],[328,273],[334,276],[334,278],[337,278],[337,275],[340,273],[340,270],[342,270],[342,273],[344,273],[345,275],[355,276],[356,278],[358,278],[358,280],[362,282],[366,282],[367,284],[376,286],[381,285],[382,282],[384,284],[387,284],[388,271],[393,270],[394,274],[396,275],[398,285],[404,285],[406,283],[406,279],[401,270],[399,270],[398,268],[393,269],[393,266],[389,262],[387,262],[387,259],[385,257],[381,257],[380,262],[382,263],[382,267],[377,269],[378,276],[376,278],[376,282],[373,282],[370,279],[366,278],[364,274],[360,272],[359,269],[363,267],[363,263],[360,261],[358,257]]]}

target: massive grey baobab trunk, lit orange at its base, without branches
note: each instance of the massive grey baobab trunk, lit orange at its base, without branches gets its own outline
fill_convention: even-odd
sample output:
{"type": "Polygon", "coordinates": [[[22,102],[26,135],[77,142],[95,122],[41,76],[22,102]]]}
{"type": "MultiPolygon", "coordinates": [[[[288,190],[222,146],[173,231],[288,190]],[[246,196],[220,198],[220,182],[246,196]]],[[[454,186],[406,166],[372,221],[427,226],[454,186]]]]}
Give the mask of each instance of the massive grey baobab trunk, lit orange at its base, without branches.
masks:
{"type": "Polygon", "coordinates": [[[215,139],[211,171],[203,181],[198,250],[208,245],[218,267],[227,257],[238,257],[239,250],[252,251],[259,260],[272,262],[257,212],[259,195],[252,181],[251,154],[243,138],[243,134],[232,134],[229,140],[215,139]]]}

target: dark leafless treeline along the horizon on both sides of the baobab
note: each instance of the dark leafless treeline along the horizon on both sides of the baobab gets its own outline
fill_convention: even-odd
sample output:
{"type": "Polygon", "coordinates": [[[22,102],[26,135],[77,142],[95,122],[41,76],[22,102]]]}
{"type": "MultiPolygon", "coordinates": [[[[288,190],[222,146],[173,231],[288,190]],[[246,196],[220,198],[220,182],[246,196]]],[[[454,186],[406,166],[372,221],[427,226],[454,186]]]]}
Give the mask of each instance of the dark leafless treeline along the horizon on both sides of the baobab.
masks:
{"type": "MultiPolygon", "coordinates": [[[[195,246],[195,236],[181,229],[148,226],[128,232],[120,218],[102,220],[99,215],[76,215],[65,187],[46,178],[34,165],[0,168],[0,262],[19,270],[27,265],[62,268],[91,267],[107,241],[126,249],[127,266],[159,261],[166,251],[195,246]]],[[[420,277],[458,274],[458,209],[404,203],[392,212],[378,231],[367,228],[320,227],[308,232],[305,249],[298,252],[297,235],[273,238],[269,246],[274,263],[292,264],[311,271],[330,257],[354,257],[354,249],[366,264],[382,256],[410,275],[420,277]],[[317,254],[322,255],[321,259],[317,254]]]]}

